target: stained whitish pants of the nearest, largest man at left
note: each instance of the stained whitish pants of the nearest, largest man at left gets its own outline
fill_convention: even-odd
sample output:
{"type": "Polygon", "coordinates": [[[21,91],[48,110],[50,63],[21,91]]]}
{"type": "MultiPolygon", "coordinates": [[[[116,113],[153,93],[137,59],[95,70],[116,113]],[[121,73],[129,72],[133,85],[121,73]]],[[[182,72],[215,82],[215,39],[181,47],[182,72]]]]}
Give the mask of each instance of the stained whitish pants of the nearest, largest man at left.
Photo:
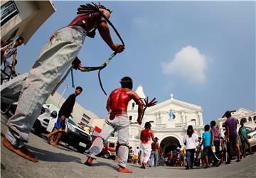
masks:
{"type": "Polygon", "coordinates": [[[41,107],[77,57],[85,36],[83,28],[61,28],[52,40],[48,40],[28,74],[1,86],[1,102],[18,101],[5,134],[12,145],[21,148],[24,142],[28,142],[28,134],[40,115],[41,107]]]}

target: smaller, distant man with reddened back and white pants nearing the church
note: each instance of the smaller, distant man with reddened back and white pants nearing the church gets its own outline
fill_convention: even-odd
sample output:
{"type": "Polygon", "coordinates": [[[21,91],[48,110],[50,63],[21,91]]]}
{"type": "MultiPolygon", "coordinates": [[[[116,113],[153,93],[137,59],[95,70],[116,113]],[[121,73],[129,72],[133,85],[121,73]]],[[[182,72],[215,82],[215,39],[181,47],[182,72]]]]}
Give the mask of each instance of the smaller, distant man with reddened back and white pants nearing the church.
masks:
{"type": "Polygon", "coordinates": [[[149,142],[150,138],[153,140],[154,143],[156,143],[156,140],[154,138],[154,133],[151,130],[151,123],[146,122],[145,123],[145,129],[142,130],[140,140],[142,140],[141,150],[141,162],[142,162],[142,169],[145,169],[146,162],[149,161],[150,153],[151,153],[151,143],[149,142]]]}

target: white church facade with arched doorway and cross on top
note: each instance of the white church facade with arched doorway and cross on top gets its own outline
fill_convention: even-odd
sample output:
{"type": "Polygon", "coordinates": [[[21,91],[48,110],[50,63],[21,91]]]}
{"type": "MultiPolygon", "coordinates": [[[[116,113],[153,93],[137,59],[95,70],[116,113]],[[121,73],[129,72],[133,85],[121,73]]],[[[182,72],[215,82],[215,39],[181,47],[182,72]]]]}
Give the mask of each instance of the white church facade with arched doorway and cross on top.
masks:
{"type": "MultiPolygon", "coordinates": [[[[142,85],[139,85],[136,92],[139,97],[146,98],[142,85]]],[[[137,121],[137,109],[137,104],[133,100],[130,101],[127,114],[131,123],[137,121]]],[[[151,122],[151,130],[154,131],[154,136],[159,138],[159,144],[164,152],[174,150],[180,145],[183,148],[183,136],[189,125],[193,126],[193,130],[198,135],[202,135],[204,131],[201,106],[174,99],[174,95],[171,94],[170,99],[146,109],[142,125],[130,124],[129,146],[132,146],[133,150],[140,146],[140,133],[147,121],[151,122]]],[[[117,133],[114,134],[114,137],[110,137],[109,141],[116,142],[117,133]]]]}

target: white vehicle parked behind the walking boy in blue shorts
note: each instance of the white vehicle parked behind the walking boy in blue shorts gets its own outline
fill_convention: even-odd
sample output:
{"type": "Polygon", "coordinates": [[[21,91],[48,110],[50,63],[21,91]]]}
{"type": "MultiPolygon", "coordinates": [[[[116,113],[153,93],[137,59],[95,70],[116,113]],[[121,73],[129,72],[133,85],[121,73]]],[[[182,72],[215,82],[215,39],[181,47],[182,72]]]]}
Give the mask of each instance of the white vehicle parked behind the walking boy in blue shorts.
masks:
{"type": "MultiPolygon", "coordinates": [[[[56,121],[57,118],[50,118],[46,128],[47,132],[51,132],[53,130],[56,121]]],[[[80,128],[80,126],[78,126],[78,124],[75,123],[73,118],[70,116],[68,119],[68,132],[63,135],[61,141],[82,153],[90,148],[92,138],[88,133],[85,132],[85,130],[80,128]]]]}

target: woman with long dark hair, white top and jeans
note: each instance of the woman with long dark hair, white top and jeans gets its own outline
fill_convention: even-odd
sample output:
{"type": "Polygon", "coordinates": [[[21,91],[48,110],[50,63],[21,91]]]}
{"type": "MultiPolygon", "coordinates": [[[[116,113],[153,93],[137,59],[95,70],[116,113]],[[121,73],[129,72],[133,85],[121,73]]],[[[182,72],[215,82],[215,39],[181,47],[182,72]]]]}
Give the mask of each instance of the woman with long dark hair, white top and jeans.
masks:
{"type": "Polygon", "coordinates": [[[198,135],[194,132],[193,126],[189,125],[187,133],[183,138],[183,143],[186,145],[186,169],[193,168],[197,141],[198,135]]]}

